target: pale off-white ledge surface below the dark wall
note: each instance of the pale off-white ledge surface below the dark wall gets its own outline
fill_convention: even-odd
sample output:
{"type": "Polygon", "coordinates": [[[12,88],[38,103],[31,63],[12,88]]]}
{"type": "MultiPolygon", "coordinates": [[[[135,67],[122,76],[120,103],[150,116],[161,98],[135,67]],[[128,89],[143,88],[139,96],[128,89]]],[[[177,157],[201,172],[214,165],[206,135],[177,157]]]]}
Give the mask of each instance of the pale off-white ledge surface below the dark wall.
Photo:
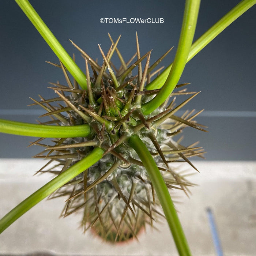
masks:
{"type": "MultiPolygon", "coordinates": [[[[0,159],[0,218],[53,176],[33,174],[46,162],[0,159]]],[[[225,255],[255,255],[256,162],[196,162],[200,173],[190,199],[176,204],[193,255],[215,255],[206,207],[211,207],[225,255]]],[[[189,166],[183,165],[182,169],[189,166]]],[[[175,197],[173,197],[175,200],[175,197]]],[[[80,215],[59,219],[64,199],[43,200],[0,235],[1,254],[52,252],[57,255],[177,255],[166,224],[147,228],[139,242],[112,246],[78,229],[80,215]]]]}

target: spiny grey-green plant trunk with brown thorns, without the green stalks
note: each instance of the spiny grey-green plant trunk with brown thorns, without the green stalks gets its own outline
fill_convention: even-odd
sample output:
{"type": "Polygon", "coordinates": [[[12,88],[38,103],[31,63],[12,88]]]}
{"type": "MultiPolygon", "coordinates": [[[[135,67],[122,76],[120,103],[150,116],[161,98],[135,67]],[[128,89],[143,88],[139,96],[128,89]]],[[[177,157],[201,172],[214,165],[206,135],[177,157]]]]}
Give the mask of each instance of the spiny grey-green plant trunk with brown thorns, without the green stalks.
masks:
{"type": "MultiPolygon", "coordinates": [[[[84,230],[93,227],[100,236],[111,241],[122,241],[136,237],[139,232],[138,227],[144,226],[147,222],[153,225],[154,216],[161,215],[154,206],[156,204],[154,187],[147,178],[143,163],[125,143],[129,135],[138,133],[141,139],[145,140],[145,143],[150,144],[148,149],[155,158],[159,170],[163,171],[167,187],[183,189],[187,193],[189,192],[187,187],[193,184],[188,182],[184,175],[174,172],[169,167],[169,163],[185,161],[195,168],[188,158],[194,155],[203,157],[204,152],[202,148],[195,147],[196,143],[184,147],[179,140],[174,142],[171,137],[180,133],[186,126],[205,131],[202,125],[193,121],[193,118],[202,111],[194,114],[195,110],[192,110],[185,112],[181,117],[175,115],[198,94],[187,92],[186,89],[179,89],[187,83],[176,86],[177,91],[170,95],[172,97],[170,103],[167,99],[153,113],[146,117],[143,115],[140,110],[141,103],[154,97],[154,94],[159,91],[145,90],[144,85],[150,82],[153,75],[159,73],[162,68],[150,74],[172,48],[150,67],[151,51],[140,57],[138,37],[136,37],[137,52],[128,63],[125,63],[117,49],[119,39],[120,37],[114,43],[110,37],[112,45],[106,56],[99,46],[103,57],[102,66],[98,65],[97,61],[94,61],[72,42],[86,61],[87,90],[79,89],[75,80],[72,84],[62,63],[60,65],[50,63],[63,70],[68,86],[51,83],[55,87],[49,88],[53,89],[58,97],[46,100],[40,96],[40,102],[33,99],[34,104],[42,106],[48,112],[42,117],[50,116],[52,119],[42,124],[90,124],[92,132],[88,138],[57,138],[53,140],[54,146],[40,143],[44,138],[31,143],[31,145],[46,147],[44,153],[48,151],[46,155],[40,153],[35,157],[50,159],[38,172],[59,174],[87,155],[93,147],[102,147],[105,150],[102,161],[105,161],[104,158],[108,158],[110,154],[109,166],[104,166],[102,170],[98,166],[92,166],[56,191],[51,198],[68,196],[61,215],[65,217],[84,208],[82,219],[84,230]],[[117,52],[121,61],[119,69],[116,69],[110,61],[114,51],[117,52]],[[130,65],[135,56],[138,57],[138,60],[130,65]],[[146,57],[145,68],[142,71],[142,60],[146,57]],[[91,79],[89,79],[88,63],[90,63],[94,75],[91,79]],[[138,75],[132,76],[131,72],[137,66],[138,75]],[[106,68],[108,68],[109,74],[106,73],[106,68]],[[114,74],[113,69],[116,70],[117,75],[114,74]],[[69,95],[66,96],[65,93],[69,93],[69,95]],[[174,102],[177,95],[188,94],[192,94],[192,96],[175,106],[174,102]],[[60,104],[61,101],[64,102],[65,106],[60,104]],[[59,107],[53,106],[53,102],[59,102],[59,107]],[[167,120],[170,120],[168,124],[167,120]],[[132,153],[125,152],[127,148],[132,153]],[[53,161],[58,163],[54,167],[50,167],[53,161]],[[61,168],[55,170],[55,167],[61,168]],[[124,193],[121,181],[118,183],[117,177],[129,175],[127,168],[132,174],[129,184],[125,188],[126,190],[129,188],[129,193],[127,191],[124,193]],[[92,180],[91,173],[94,173],[94,180],[92,180]],[[105,190],[110,191],[109,194],[102,187],[104,182],[105,190]],[[151,195],[149,191],[151,191],[151,195]],[[116,206],[118,202],[121,208],[116,206]],[[117,207],[117,209],[113,210],[112,207],[117,207]]],[[[101,161],[100,164],[102,164],[101,161]]]]}

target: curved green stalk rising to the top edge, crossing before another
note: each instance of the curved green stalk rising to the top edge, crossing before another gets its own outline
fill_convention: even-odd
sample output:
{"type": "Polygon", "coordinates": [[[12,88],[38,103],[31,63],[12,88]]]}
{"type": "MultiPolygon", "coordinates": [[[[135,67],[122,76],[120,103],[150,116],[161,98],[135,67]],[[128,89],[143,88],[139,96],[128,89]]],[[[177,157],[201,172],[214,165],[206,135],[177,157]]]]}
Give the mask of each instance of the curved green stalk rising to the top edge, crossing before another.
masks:
{"type": "Polygon", "coordinates": [[[180,80],[195,34],[199,6],[200,0],[186,0],[180,40],[172,68],[159,93],[151,101],[142,105],[142,111],[146,115],[165,102],[177,85],[178,80],[180,80]]]}

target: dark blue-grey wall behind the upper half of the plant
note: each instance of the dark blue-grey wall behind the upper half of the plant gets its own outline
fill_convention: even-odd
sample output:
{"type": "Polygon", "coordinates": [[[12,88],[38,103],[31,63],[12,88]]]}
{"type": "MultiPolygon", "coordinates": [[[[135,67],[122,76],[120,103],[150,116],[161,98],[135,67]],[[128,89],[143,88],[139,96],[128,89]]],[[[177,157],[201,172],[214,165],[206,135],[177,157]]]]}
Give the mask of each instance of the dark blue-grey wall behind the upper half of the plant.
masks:
{"type": "MultiPolygon", "coordinates": [[[[59,39],[69,54],[76,54],[82,70],[84,60],[71,45],[72,39],[94,59],[102,58],[98,50],[110,46],[108,32],[114,40],[122,34],[118,49],[125,60],[136,50],[138,31],[141,54],[153,49],[151,63],[174,46],[163,61],[174,59],[184,11],[181,0],[160,1],[82,1],[31,0],[35,10],[59,39]],[[100,18],[163,18],[158,24],[100,23],[100,18]]],[[[201,1],[195,39],[219,20],[238,0],[201,1]]],[[[200,140],[208,160],[255,160],[255,7],[195,56],[187,66],[180,83],[190,82],[193,91],[202,91],[188,109],[205,109],[197,118],[207,125],[209,133],[186,128],[184,144],[200,140]]],[[[1,0],[0,10],[1,94],[0,118],[34,123],[39,108],[27,107],[29,96],[48,98],[48,82],[64,83],[59,68],[45,61],[58,62],[15,1],[1,0]]],[[[118,63],[115,56],[114,63],[118,63]]],[[[41,149],[26,148],[33,138],[0,134],[0,157],[30,157],[41,149]]]]}

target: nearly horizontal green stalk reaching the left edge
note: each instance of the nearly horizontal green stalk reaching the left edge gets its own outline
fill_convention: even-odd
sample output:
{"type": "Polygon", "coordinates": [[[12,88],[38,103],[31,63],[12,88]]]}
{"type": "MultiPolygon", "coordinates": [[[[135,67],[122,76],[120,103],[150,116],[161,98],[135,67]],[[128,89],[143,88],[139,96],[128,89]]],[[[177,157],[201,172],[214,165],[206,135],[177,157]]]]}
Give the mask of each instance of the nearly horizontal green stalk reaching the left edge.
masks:
{"type": "Polygon", "coordinates": [[[88,124],[54,126],[29,124],[0,119],[0,132],[43,138],[76,138],[88,136],[91,132],[91,129],[88,124]]]}

